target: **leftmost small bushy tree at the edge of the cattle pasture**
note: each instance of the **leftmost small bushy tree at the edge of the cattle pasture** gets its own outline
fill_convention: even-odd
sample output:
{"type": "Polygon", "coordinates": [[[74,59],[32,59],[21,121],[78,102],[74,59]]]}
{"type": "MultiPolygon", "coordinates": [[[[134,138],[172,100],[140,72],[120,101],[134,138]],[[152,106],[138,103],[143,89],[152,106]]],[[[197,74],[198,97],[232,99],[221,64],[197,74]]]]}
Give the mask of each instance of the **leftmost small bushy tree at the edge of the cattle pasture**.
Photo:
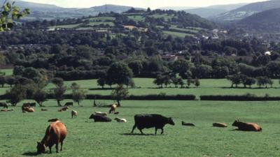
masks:
{"type": "Polygon", "coordinates": [[[26,98],[26,90],[21,84],[15,84],[10,91],[6,92],[6,95],[8,96],[8,103],[16,106],[21,100],[26,98]]]}

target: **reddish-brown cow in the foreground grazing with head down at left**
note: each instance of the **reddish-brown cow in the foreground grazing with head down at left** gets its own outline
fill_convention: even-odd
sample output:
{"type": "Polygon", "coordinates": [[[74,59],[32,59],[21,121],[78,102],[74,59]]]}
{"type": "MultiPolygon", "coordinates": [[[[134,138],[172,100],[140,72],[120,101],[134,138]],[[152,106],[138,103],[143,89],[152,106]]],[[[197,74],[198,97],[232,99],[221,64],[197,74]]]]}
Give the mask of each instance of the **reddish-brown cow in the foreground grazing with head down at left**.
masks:
{"type": "Polygon", "coordinates": [[[37,142],[37,154],[45,152],[45,147],[50,149],[52,153],[52,146],[55,144],[55,149],[58,153],[58,144],[60,142],[60,151],[62,151],[63,140],[67,135],[66,126],[61,121],[55,121],[45,130],[45,136],[41,142],[37,142]]]}

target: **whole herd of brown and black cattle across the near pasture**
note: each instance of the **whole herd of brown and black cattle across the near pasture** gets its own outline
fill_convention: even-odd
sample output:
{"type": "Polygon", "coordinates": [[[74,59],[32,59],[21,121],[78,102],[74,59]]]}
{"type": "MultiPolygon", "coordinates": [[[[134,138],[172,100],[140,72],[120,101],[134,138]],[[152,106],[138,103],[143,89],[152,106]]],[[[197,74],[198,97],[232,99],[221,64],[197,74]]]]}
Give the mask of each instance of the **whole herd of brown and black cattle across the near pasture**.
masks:
{"type": "MultiPolygon", "coordinates": [[[[36,103],[24,103],[22,105],[22,112],[35,112],[34,106],[36,103]]],[[[73,105],[73,103],[69,102],[64,105],[61,109],[58,110],[58,112],[63,112],[66,110],[69,110],[69,106],[73,105]]],[[[8,112],[13,111],[13,109],[8,109],[8,105],[6,103],[0,103],[0,107],[3,107],[1,112],[8,112]]],[[[119,114],[119,112],[116,112],[117,105],[113,104],[111,105],[111,108],[109,110],[109,114],[119,114]]],[[[46,109],[41,109],[41,111],[47,111],[46,109]]],[[[71,118],[77,117],[78,112],[75,110],[71,110],[71,118]]],[[[94,112],[94,114],[90,115],[90,119],[94,119],[94,122],[110,122],[112,119],[107,117],[108,114],[106,112],[94,112]]],[[[127,122],[126,119],[121,119],[116,117],[115,120],[117,122],[127,122]]],[[[45,152],[45,148],[49,147],[50,153],[51,148],[53,145],[55,145],[56,151],[58,152],[58,144],[61,144],[60,151],[62,151],[63,141],[66,137],[67,130],[66,126],[59,121],[59,119],[49,119],[48,120],[50,125],[48,126],[47,130],[45,131],[45,136],[43,137],[43,140],[41,142],[37,142],[37,153],[41,154],[45,152]]],[[[158,129],[161,130],[161,134],[164,132],[164,126],[166,124],[170,124],[172,126],[175,125],[173,119],[171,117],[167,118],[160,114],[136,114],[134,116],[134,126],[132,127],[131,133],[134,133],[134,129],[138,128],[141,134],[143,133],[144,128],[155,128],[155,135],[157,134],[158,129]]],[[[182,126],[195,126],[195,124],[192,123],[186,123],[185,121],[182,121],[182,126]]],[[[228,127],[227,124],[223,123],[214,123],[214,127],[220,127],[225,128],[228,127]]],[[[244,131],[261,131],[262,128],[258,126],[258,124],[253,123],[244,123],[239,120],[235,120],[232,126],[236,126],[236,130],[244,130],[244,131]]]]}

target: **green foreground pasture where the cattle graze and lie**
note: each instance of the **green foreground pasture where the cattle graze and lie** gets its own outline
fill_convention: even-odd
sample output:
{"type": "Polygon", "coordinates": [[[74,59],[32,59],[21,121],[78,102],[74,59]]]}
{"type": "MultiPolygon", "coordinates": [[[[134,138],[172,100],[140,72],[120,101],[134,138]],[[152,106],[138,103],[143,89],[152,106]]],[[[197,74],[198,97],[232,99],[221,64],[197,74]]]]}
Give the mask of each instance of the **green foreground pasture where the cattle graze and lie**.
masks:
{"type": "MultiPolygon", "coordinates": [[[[106,101],[112,103],[112,101],[106,101]]],[[[70,111],[57,112],[55,101],[45,103],[47,112],[23,114],[0,112],[0,156],[34,156],[36,142],[48,126],[48,119],[59,118],[68,135],[64,151],[41,156],[279,156],[279,102],[206,102],[206,101],[123,101],[118,117],[126,124],[94,123],[88,119],[94,111],[108,112],[109,108],[91,107],[92,100],[82,102],[84,107],[73,107],[78,117],[71,119],[70,111]],[[158,113],[172,117],[175,126],[165,126],[163,135],[153,135],[154,129],[144,129],[147,135],[130,134],[134,114],[158,113]],[[233,130],[235,119],[255,122],[260,133],[233,130]],[[196,124],[181,126],[181,121],[196,124]],[[211,127],[213,122],[225,122],[228,128],[211,127]]],[[[76,105],[76,104],[75,104],[76,105]]],[[[114,115],[109,115],[112,119],[114,115]]],[[[55,152],[55,148],[52,148],[55,152]]]]}

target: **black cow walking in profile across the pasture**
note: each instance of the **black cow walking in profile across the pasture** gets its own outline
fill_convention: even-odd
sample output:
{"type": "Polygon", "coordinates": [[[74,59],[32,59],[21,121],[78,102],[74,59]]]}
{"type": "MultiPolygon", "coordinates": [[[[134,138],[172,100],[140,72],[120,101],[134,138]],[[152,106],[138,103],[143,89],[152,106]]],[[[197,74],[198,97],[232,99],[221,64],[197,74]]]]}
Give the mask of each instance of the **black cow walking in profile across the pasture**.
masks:
{"type": "Polygon", "coordinates": [[[169,118],[163,117],[160,114],[136,114],[134,116],[134,121],[135,124],[132,128],[131,133],[133,133],[136,127],[140,130],[141,134],[144,134],[142,132],[142,129],[144,128],[155,128],[155,135],[156,135],[159,128],[162,130],[163,133],[163,127],[166,124],[170,124],[172,126],[175,125],[171,117],[169,118]]]}

